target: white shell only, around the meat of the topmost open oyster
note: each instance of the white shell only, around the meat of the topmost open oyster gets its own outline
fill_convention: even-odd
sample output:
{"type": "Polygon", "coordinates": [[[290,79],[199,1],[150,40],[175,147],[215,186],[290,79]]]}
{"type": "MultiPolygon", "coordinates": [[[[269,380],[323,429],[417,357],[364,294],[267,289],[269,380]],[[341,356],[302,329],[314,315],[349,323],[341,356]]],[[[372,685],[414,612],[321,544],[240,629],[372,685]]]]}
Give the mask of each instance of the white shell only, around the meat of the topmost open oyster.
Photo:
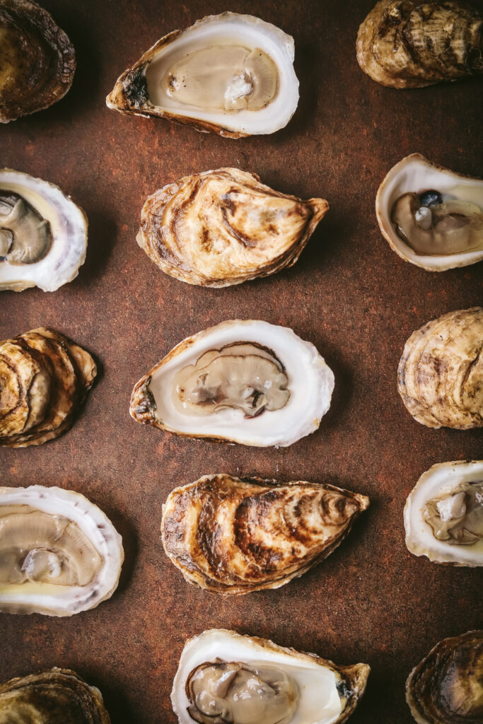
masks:
{"type": "Polygon", "coordinates": [[[227,138],[273,133],[287,125],[297,108],[298,80],[293,58],[293,38],[275,25],[234,12],[209,15],[155,43],[119,76],[106,104],[122,113],[159,116],[227,138]],[[277,67],[277,92],[266,106],[257,110],[203,109],[196,104],[180,103],[166,93],[161,95],[162,78],[180,59],[225,43],[250,51],[261,50],[277,67]]]}

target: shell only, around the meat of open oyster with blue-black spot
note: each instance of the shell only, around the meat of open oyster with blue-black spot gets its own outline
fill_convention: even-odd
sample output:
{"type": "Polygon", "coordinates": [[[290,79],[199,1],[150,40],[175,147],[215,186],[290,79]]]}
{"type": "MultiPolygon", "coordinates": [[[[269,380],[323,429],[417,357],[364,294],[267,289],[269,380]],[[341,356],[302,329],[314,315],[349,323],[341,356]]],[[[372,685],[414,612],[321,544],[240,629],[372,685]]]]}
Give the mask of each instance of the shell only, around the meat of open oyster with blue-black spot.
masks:
{"type": "Polygon", "coordinates": [[[483,180],[463,176],[445,167],[428,161],[421,153],[399,161],[390,169],[379,186],[376,197],[376,214],[379,229],[395,251],[405,261],[421,266],[427,271],[445,271],[456,266],[476,264],[483,259],[483,235],[480,248],[474,251],[450,253],[438,256],[418,253],[400,237],[392,221],[392,209],[395,202],[405,193],[423,193],[426,190],[440,191],[444,198],[458,198],[460,201],[474,203],[483,214],[483,180]]]}

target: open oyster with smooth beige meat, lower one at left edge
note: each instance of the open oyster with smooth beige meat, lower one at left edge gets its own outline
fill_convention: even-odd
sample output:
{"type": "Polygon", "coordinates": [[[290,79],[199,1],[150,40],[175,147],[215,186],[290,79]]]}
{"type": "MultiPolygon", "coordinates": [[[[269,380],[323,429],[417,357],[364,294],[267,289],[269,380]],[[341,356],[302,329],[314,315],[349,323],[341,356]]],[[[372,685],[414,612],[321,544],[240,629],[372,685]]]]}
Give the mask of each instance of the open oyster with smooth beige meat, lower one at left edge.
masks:
{"type": "Polygon", "coordinates": [[[112,596],[124,552],[83,495],[32,485],[0,487],[0,559],[0,611],[71,616],[112,596]]]}

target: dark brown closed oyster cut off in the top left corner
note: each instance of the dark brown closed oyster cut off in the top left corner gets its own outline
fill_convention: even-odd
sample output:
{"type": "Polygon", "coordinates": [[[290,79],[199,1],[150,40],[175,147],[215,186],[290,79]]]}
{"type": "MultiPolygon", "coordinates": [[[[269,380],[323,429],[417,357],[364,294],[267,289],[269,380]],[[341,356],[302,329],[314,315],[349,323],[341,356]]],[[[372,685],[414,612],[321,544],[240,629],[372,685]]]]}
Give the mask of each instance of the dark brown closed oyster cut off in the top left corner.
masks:
{"type": "Polygon", "coordinates": [[[0,123],[60,101],[74,72],[70,40],[43,7],[0,0],[0,123]]]}

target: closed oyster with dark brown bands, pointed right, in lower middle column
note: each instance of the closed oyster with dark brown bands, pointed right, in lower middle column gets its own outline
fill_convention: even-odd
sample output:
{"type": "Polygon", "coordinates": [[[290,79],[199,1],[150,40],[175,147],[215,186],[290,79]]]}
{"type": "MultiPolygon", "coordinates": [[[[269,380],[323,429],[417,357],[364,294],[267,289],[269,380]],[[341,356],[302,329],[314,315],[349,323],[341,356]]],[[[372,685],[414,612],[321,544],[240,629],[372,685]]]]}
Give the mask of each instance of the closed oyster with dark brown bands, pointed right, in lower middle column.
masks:
{"type": "Polygon", "coordinates": [[[188,583],[215,593],[280,588],[332,553],[368,505],[333,485],[206,475],[169,494],[164,551],[188,583]]]}

